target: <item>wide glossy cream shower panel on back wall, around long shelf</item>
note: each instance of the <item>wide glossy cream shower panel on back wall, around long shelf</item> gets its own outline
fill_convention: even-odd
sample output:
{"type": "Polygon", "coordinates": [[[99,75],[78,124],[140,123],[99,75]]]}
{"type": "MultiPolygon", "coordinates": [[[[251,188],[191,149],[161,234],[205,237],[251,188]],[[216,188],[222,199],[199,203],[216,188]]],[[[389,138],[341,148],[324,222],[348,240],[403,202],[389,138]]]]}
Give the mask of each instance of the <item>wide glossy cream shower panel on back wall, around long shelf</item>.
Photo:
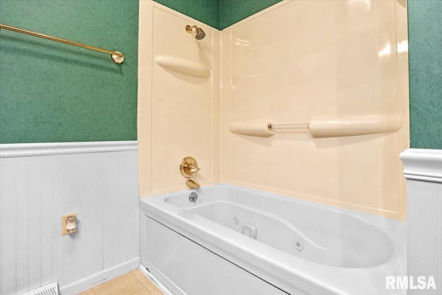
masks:
{"type": "Polygon", "coordinates": [[[405,219],[407,12],[398,1],[282,1],[222,31],[222,181],[405,219]],[[398,115],[397,132],[251,137],[233,122],[398,115]]]}

